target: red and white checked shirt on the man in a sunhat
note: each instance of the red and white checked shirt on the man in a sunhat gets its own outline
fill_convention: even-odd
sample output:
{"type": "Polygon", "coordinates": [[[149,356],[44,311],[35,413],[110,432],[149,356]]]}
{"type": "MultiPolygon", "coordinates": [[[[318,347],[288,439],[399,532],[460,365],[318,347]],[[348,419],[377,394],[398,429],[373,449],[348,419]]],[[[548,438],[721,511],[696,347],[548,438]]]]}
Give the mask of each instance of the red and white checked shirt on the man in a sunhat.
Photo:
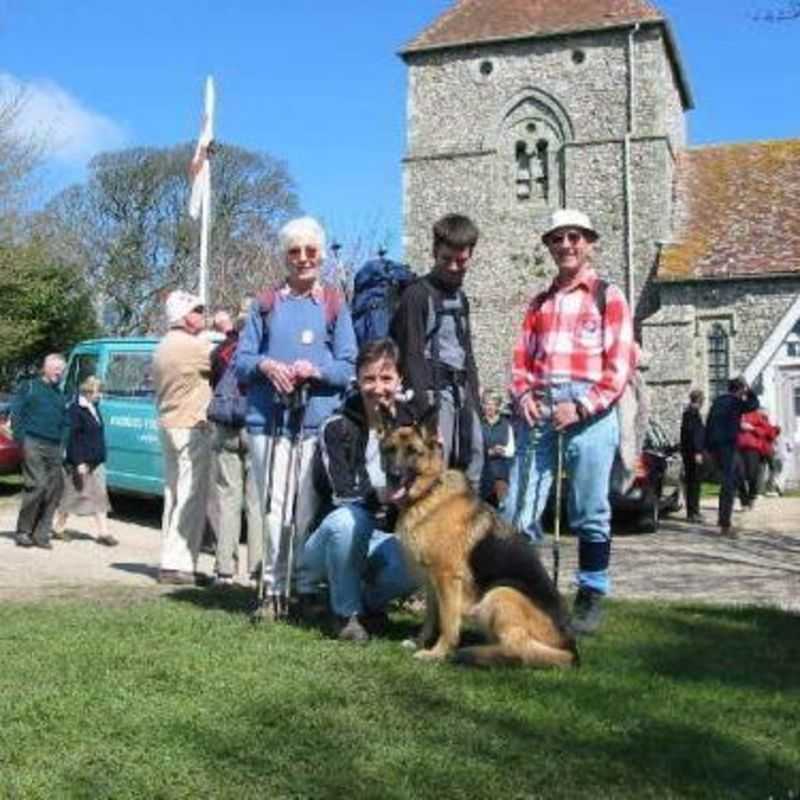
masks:
{"type": "Polygon", "coordinates": [[[609,284],[603,319],[594,297],[597,280],[593,269],[585,269],[568,286],[553,282],[533,298],[512,357],[510,389],[517,400],[585,381],[591,387],[581,402],[598,414],[622,394],[635,359],[631,312],[622,292],[609,284]]]}

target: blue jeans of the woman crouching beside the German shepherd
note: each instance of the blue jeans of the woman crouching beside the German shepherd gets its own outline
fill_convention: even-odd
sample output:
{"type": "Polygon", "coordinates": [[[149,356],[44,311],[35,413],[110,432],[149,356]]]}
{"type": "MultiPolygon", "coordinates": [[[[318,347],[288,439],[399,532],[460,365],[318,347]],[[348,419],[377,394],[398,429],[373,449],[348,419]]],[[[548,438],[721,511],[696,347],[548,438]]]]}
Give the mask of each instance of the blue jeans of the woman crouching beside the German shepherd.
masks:
{"type": "Polygon", "coordinates": [[[303,547],[298,591],[311,592],[321,580],[340,617],[382,611],[418,586],[397,537],[376,530],[375,517],[355,504],[331,511],[303,547]]]}

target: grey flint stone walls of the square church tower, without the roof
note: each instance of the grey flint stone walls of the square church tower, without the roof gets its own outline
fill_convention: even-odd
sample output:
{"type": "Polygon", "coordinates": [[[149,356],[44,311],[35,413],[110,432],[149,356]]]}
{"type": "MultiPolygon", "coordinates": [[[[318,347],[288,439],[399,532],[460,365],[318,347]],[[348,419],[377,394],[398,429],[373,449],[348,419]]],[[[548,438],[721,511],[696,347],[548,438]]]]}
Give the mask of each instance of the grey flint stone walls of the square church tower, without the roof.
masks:
{"type": "MultiPolygon", "coordinates": [[[[506,384],[527,303],[555,274],[539,241],[554,208],[579,207],[592,216],[602,237],[598,271],[624,291],[629,288],[627,43],[627,31],[600,31],[407,57],[405,258],[417,271],[427,271],[431,228],[443,214],[465,213],[477,223],[481,240],[465,288],[484,386],[506,384]],[[485,63],[491,64],[489,74],[481,69],[485,63]],[[502,131],[526,102],[531,113],[549,109],[552,130],[563,133],[556,159],[561,166],[560,174],[550,175],[546,199],[516,202],[504,161],[513,159],[513,151],[502,131]]],[[[660,28],[645,26],[637,33],[634,63],[633,290],[638,310],[649,313],[655,299],[645,287],[657,243],[670,236],[675,157],[686,134],[660,28]]]]}

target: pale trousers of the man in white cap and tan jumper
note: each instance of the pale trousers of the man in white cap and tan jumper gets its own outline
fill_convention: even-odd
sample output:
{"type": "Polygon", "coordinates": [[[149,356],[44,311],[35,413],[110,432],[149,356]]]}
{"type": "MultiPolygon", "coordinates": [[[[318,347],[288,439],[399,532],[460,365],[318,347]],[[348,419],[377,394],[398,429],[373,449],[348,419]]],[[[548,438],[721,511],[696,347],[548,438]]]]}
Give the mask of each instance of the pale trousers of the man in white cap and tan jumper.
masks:
{"type": "Polygon", "coordinates": [[[164,516],[161,569],[194,572],[206,524],[211,463],[209,428],[162,428],[164,516]]]}

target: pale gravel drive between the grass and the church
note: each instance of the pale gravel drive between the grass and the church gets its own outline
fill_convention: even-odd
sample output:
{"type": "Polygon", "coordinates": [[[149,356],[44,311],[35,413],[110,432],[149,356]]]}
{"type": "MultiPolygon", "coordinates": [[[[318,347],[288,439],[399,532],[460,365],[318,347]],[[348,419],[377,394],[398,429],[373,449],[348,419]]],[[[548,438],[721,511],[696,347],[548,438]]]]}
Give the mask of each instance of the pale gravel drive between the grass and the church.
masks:
{"type": "MultiPolygon", "coordinates": [[[[716,501],[703,513],[715,518],[716,501]]],[[[117,503],[110,528],[120,545],[94,542],[88,520],[72,518],[70,542],[51,551],[17,547],[13,540],[18,501],[0,498],[0,601],[42,597],[96,596],[122,592],[156,594],[159,509],[146,501],[117,503]]],[[[761,498],[754,511],[737,513],[737,540],[722,539],[712,526],[688,525],[681,517],[663,521],[650,535],[619,535],[614,540],[614,594],[622,598],[709,601],[778,606],[800,612],[800,498],[761,498]]],[[[575,541],[562,539],[562,589],[575,566],[575,541]]],[[[550,548],[542,551],[552,565],[550,548]]],[[[244,564],[244,560],[242,560],[244,564]]],[[[213,570],[211,556],[199,565],[213,570]]]]}

